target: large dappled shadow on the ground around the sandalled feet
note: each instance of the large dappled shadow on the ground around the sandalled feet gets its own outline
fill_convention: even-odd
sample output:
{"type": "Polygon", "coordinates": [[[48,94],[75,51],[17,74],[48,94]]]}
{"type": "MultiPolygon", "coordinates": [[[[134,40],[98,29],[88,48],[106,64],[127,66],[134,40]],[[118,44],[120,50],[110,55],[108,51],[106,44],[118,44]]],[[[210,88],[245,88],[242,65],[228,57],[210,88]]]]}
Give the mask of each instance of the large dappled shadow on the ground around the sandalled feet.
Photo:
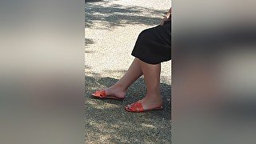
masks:
{"type": "Polygon", "coordinates": [[[86,142],[170,143],[170,85],[161,83],[163,110],[128,113],[124,106],[138,101],[146,93],[143,78],[130,86],[124,101],[95,99],[90,95],[117,81],[86,76],[86,142]]]}

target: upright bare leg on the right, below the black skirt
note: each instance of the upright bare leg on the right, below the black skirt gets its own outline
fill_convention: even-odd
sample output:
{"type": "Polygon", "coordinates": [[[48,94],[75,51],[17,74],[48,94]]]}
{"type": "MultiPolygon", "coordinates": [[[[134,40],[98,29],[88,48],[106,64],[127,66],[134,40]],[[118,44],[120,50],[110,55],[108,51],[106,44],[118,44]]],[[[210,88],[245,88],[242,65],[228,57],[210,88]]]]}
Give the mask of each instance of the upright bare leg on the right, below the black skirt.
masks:
{"type": "Polygon", "coordinates": [[[146,82],[146,96],[140,102],[144,109],[150,109],[162,105],[160,94],[161,64],[151,65],[140,61],[142,73],[146,82]]]}

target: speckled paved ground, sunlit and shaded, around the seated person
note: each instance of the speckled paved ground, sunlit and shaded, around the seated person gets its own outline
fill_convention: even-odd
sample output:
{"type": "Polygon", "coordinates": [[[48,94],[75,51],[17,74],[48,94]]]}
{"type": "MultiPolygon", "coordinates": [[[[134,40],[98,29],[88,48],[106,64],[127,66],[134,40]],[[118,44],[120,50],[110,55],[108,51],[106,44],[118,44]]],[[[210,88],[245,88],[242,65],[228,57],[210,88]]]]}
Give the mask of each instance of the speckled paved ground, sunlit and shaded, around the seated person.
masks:
{"type": "Polygon", "coordinates": [[[169,0],[86,2],[86,143],[170,143],[170,62],[162,64],[162,111],[131,114],[123,109],[143,98],[142,78],[123,102],[90,98],[122,77],[134,58],[130,53],[138,34],[158,25],[169,8],[169,0]]]}

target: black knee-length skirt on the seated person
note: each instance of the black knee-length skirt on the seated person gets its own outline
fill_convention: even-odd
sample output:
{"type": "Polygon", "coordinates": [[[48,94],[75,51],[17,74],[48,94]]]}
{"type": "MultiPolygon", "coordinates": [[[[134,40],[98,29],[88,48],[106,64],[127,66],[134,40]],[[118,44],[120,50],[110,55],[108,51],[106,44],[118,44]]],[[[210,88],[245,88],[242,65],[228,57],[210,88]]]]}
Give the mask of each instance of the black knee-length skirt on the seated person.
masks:
{"type": "Polygon", "coordinates": [[[132,55],[143,62],[158,64],[171,59],[170,23],[143,30],[137,38],[132,55]]]}

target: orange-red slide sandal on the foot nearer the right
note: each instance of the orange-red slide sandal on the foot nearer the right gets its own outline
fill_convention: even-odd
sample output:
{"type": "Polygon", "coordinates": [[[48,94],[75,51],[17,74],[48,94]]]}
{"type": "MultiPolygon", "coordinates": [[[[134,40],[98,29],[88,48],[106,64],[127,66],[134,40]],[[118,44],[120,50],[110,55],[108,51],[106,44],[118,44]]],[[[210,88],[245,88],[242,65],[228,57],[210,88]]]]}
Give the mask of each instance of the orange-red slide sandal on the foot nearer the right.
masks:
{"type": "Polygon", "coordinates": [[[133,112],[133,113],[142,113],[146,111],[152,111],[152,110],[162,110],[162,105],[158,107],[154,107],[151,109],[144,109],[141,102],[134,102],[130,106],[125,107],[126,111],[133,112]]]}

